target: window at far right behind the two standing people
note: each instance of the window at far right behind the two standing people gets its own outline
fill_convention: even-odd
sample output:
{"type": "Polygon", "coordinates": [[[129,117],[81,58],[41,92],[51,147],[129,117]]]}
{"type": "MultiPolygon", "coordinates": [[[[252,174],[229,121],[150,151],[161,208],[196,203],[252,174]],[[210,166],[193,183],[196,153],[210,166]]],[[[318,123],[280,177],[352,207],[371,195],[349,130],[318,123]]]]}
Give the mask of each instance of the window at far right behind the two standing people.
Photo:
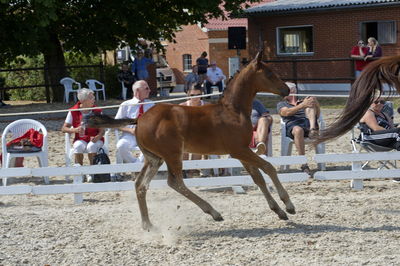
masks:
{"type": "Polygon", "coordinates": [[[361,39],[367,41],[374,37],[380,44],[396,43],[395,21],[369,21],[361,22],[361,39]]]}

